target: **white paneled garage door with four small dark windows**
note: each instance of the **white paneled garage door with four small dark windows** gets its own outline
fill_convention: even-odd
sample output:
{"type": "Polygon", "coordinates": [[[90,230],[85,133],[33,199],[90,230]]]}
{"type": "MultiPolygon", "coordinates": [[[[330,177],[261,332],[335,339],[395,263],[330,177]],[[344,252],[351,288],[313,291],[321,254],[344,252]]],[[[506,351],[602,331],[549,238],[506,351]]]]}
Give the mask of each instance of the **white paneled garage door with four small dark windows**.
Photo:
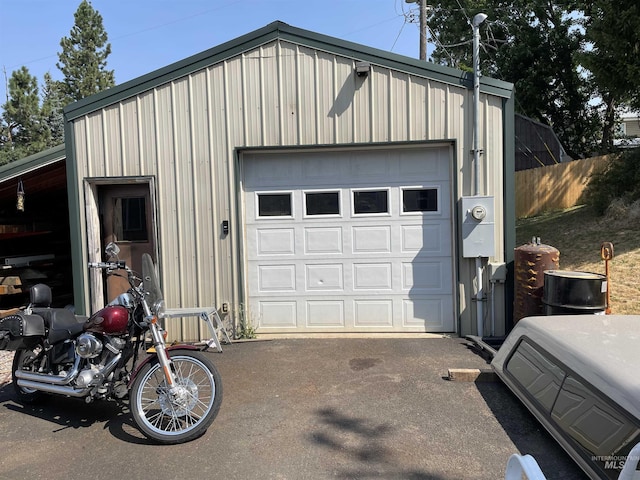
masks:
{"type": "Polygon", "coordinates": [[[244,154],[259,332],[455,330],[447,146],[244,154]]]}

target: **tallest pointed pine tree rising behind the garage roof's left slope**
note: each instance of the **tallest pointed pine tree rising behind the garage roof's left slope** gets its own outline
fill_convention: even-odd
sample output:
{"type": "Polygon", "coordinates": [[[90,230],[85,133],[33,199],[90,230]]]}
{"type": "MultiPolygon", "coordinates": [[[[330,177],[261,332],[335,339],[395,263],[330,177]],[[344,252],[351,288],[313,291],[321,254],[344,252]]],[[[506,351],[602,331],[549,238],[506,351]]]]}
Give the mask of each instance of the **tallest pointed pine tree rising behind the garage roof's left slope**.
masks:
{"type": "Polygon", "coordinates": [[[60,41],[62,52],[56,64],[64,75],[62,93],[77,101],[115,85],[113,70],[107,70],[111,44],[102,25],[102,16],[83,0],[74,14],[69,37],[60,41]]]}

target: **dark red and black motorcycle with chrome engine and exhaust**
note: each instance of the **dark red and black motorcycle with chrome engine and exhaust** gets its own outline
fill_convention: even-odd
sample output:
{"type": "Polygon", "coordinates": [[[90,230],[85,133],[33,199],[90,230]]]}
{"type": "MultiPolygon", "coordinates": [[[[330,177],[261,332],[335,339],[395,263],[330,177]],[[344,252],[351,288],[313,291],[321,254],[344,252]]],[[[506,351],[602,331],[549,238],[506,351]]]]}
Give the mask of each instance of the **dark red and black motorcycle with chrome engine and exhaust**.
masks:
{"type": "Polygon", "coordinates": [[[142,256],[138,278],[118,259],[117,245],[110,243],[105,253],[107,262],[89,268],[122,277],[124,271],[130,288],[90,317],[51,308],[51,289],[38,284],[26,309],[0,319],[0,350],[15,351],[18,400],[128,397],[133,419],[149,439],[178,444],[200,437],[222,402],[218,370],[196,346],[165,343],[164,299],[151,257],[142,256]]]}

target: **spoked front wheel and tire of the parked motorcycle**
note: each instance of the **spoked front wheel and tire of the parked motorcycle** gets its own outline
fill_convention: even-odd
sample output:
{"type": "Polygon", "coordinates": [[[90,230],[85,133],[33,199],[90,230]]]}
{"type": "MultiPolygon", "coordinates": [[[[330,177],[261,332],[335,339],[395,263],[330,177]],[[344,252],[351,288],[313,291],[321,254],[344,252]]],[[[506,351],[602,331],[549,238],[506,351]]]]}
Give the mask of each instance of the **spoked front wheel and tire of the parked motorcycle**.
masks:
{"type": "Polygon", "coordinates": [[[129,397],[138,428],[163,444],[184,443],[204,434],[222,403],[220,374],[206,355],[174,351],[170,356],[173,391],[155,358],[138,372],[129,397]]]}

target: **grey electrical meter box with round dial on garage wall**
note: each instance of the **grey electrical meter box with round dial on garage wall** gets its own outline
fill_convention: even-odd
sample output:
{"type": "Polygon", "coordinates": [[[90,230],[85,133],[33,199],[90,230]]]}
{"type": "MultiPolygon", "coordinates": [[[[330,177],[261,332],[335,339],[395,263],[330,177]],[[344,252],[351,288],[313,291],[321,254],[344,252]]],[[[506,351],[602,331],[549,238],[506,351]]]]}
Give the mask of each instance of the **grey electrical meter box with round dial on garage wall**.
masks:
{"type": "Polygon", "coordinates": [[[462,256],[495,255],[494,199],[488,196],[462,197],[462,256]]]}

